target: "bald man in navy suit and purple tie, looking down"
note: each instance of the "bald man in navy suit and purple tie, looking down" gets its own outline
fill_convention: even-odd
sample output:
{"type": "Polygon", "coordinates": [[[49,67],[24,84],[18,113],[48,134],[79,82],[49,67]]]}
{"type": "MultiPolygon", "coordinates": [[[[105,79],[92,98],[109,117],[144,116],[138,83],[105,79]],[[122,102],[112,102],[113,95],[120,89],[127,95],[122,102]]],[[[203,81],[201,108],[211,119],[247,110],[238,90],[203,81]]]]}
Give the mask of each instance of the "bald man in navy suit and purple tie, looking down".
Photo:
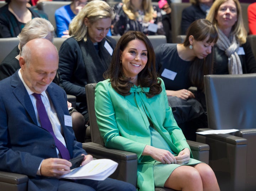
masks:
{"type": "Polygon", "coordinates": [[[58,179],[70,173],[71,163],[62,158],[54,136],[42,127],[33,93],[41,96],[54,135],[70,158],[84,155],[82,165],[93,160],[75,140],[66,93],[52,83],[58,69],[58,52],[49,40],[33,39],[22,48],[19,62],[21,69],[0,81],[0,170],[26,174],[28,190],[33,191],[136,190],[127,182],[110,178],[58,179]]]}

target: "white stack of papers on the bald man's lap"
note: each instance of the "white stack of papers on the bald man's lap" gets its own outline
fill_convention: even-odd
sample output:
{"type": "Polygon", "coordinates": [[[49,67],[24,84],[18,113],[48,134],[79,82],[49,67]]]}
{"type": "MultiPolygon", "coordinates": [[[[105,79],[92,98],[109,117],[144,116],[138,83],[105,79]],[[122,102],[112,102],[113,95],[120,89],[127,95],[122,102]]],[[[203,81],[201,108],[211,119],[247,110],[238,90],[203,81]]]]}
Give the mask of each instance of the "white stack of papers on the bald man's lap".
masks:
{"type": "Polygon", "coordinates": [[[117,162],[110,159],[92,160],[84,166],[73,169],[69,174],[63,175],[61,178],[105,180],[113,174],[117,165],[117,162]]]}

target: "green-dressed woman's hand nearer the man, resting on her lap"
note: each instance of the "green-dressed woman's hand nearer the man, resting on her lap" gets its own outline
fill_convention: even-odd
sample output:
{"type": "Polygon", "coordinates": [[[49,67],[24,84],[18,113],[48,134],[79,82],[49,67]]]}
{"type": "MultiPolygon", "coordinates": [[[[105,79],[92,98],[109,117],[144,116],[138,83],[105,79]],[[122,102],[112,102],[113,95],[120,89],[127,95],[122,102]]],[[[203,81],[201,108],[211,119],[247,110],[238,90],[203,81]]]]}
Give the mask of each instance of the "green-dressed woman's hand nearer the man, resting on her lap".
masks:
{"type": "Polygon", "coordinates": [[[176,158],[174,155],[164,149],[155,148],[149,145],[146,145],[144,148],[144,151],[142,153],[143,155],[147,155],[152,157],[153,159],[163,163],[163,164],[176,164],[176,158]]]}

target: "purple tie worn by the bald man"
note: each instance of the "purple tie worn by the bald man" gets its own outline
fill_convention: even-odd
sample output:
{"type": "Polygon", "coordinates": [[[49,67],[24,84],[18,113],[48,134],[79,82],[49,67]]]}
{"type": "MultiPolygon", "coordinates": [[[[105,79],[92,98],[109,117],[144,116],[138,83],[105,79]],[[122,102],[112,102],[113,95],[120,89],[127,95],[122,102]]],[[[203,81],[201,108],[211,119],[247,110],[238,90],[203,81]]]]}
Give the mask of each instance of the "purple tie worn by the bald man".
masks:
{"type": "Polygon", "coordinates": [[[56,147],[58,148],[60,155],[62,156],[63,159],[69,160],[70,159],[70,154],[68,149],[58,140],[58,138],[55,136],[53,129],[52,129],[52,124],[49,120],[49,117],[46,113],[46,109],[44,107],[44,104],[41,99],[41,94],[33,93],[32,94],[36,98],[36,106],[37,106],[37,111],[39,115],[39,119],[41,122],[41,126],[47,130],[49,133],[52,134],[56,147]]]}

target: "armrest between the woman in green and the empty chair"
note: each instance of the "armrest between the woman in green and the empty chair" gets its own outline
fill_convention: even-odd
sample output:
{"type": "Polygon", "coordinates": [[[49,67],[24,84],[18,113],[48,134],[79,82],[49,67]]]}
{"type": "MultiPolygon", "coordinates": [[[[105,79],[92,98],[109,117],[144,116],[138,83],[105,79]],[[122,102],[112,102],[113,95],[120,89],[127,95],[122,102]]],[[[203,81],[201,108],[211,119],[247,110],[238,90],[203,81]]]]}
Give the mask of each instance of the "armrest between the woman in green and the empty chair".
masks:
{"type": "Polygon", "coordinates": [[[195,141],[187,140],[190,146],[192,155],[194,159],[200,160],[206,164],[209,164],[209,145],[204,143],[199,143],[195,141]]]}

